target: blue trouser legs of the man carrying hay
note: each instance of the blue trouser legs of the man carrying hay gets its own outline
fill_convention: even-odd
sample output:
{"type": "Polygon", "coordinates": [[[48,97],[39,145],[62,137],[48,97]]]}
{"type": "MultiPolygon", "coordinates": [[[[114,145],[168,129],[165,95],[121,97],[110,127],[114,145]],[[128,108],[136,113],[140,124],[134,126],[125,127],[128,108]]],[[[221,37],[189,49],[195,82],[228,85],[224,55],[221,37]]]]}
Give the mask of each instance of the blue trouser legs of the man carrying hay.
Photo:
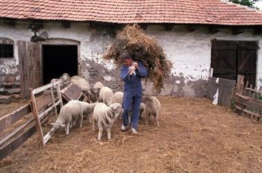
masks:
{"type": "Polygon", "coordinates": [[[138,119],[140,112],[140,104],[142,100],[142,91],[124,91],[122,108],[123,125],[127,127],[129,124],[129,111],[132,110],[131,123],[132,128],[138,129],[138,119]]]}

